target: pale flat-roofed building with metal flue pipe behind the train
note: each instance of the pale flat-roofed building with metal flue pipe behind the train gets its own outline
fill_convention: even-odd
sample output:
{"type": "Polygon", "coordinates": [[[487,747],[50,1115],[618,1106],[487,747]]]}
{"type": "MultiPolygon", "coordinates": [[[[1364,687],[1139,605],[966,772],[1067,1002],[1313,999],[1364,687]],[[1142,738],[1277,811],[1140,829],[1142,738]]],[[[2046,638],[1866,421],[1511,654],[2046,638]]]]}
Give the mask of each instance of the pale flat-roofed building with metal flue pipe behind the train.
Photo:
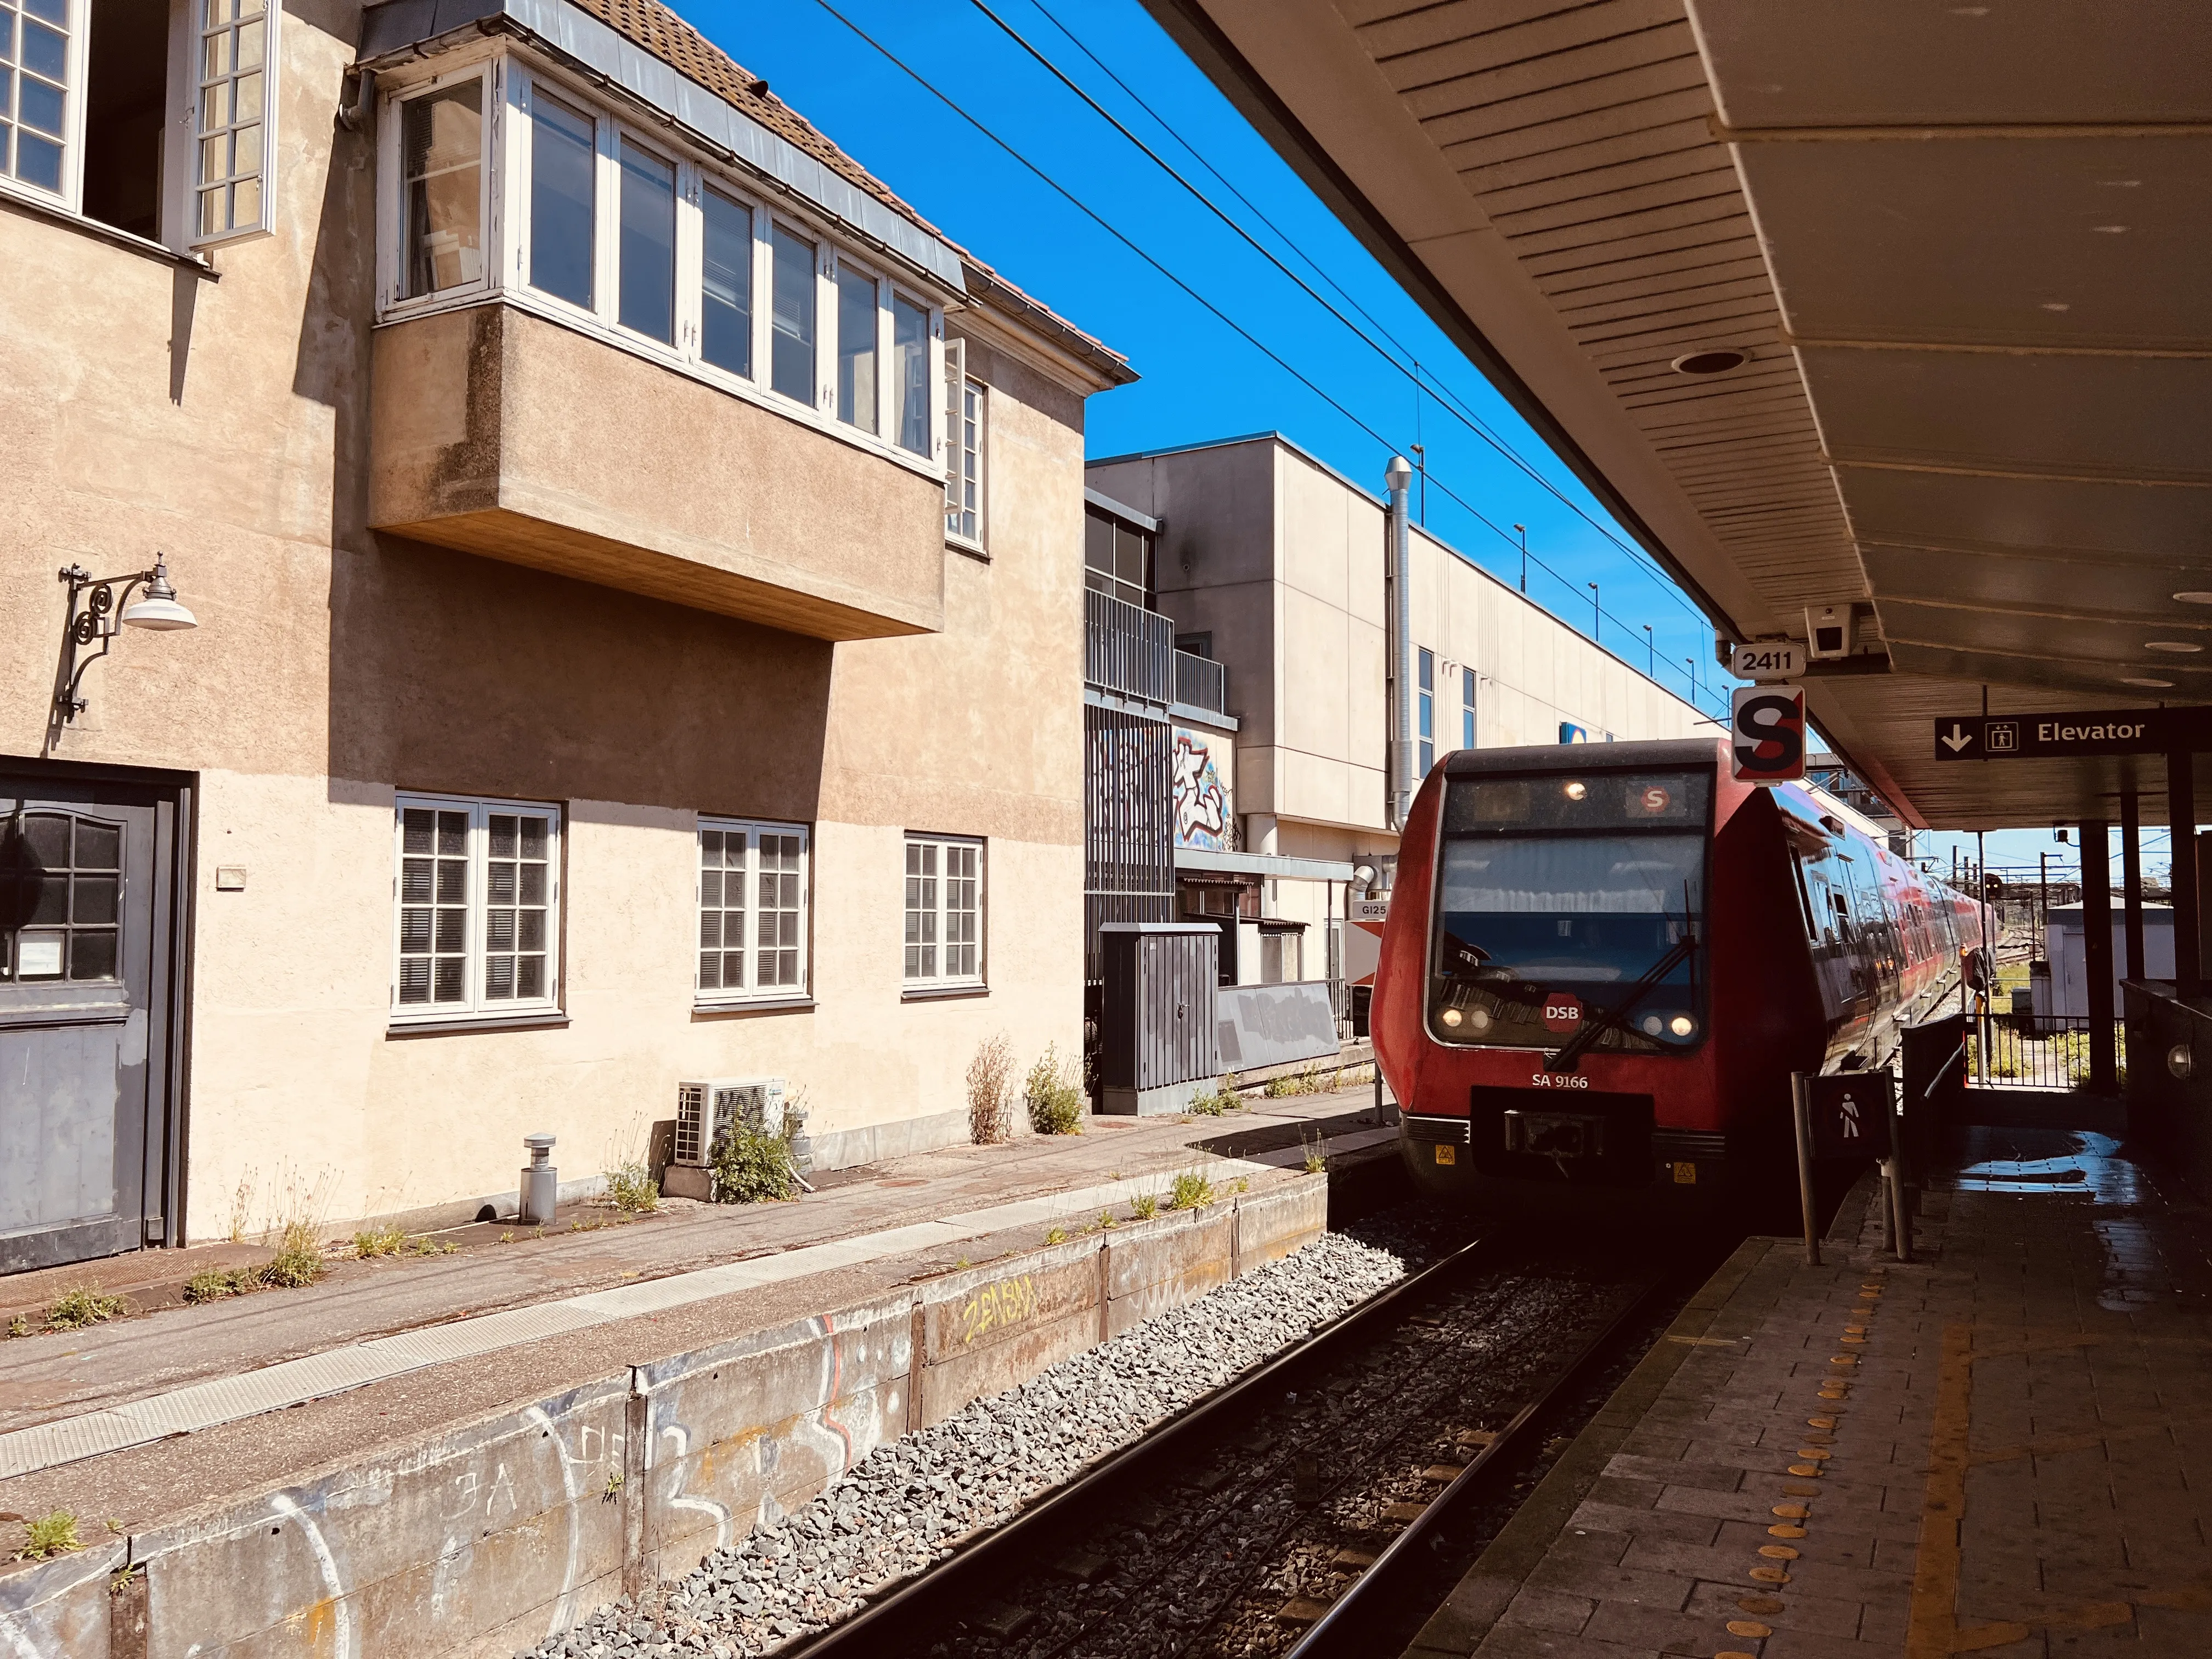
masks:
{"type": "MultiPolygon", "coordinates": [[[[1113,456],[1093,518],[1150,526],[1177,646],[1225,670],[1232,845],[1177,814],[1183,916],[1241,916],[1237,980],[1345,980],[1354,867],[1387,889],[1385,502],[1281,434],[1113,456]]],[[[1380,480],[1378,480],[1380,482],[1380,480]]],[[[1710,717],[1473,560],[1411,531],[1416,774],[1458,748],[1714,732],[1710,717]]],[[[1203,765],[1183,765],[1201,776],[1203,765]]],[[[1365,883],[1363,883],[1365,891],[1365,883]]]]}

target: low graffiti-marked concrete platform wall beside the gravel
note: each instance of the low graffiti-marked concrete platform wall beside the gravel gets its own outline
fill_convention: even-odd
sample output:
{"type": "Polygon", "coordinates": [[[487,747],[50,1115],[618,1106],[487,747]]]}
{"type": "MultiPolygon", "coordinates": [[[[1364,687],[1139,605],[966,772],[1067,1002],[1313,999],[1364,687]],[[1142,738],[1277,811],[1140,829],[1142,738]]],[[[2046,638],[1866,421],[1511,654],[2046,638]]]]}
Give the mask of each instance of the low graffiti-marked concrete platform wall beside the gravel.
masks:
{"type": "Polygon", "coordinates": [[[1314,1241],[1327,1177],[630,1367],[82,1555],[0,1568],[22,1659],[507,1659],[885,1440],[1314,1241]],[[113,1575],[133,1582],[111,1593],[113,1575]],[[144,1621],[144,1637],[115,1626],[144,1621]],[[111,1646],[113,1641],[113,1646],[111,1646]]]}

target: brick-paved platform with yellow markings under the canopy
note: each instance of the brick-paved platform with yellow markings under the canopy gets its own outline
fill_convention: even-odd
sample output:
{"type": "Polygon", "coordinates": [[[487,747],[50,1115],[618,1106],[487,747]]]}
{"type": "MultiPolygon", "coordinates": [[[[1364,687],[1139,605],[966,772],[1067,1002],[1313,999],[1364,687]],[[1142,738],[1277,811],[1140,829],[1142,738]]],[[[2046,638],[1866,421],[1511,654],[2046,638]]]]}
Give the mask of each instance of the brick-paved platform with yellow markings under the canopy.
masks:
{"type": "Polygon", "coordinates": [[[2108,1137],[1971,1130],[1918,1261],[1752,1239],[1409,1659],[2212,1655],[2212,1265],[2108,1137]]]}

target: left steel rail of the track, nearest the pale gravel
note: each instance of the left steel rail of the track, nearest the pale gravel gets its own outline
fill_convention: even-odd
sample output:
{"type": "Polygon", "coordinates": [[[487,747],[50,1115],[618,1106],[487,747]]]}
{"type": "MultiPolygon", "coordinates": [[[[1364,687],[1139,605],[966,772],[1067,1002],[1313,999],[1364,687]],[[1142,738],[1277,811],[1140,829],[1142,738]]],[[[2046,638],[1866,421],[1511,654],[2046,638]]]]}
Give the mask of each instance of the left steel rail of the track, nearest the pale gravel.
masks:
{"type": "Polygon", "coordinates": [[[1449,1256],[1431,1261],[1420,1272],[1407,1274],[1389,1290],[1369,1296],[1358,1307],[1349,1307],[1310,1332],[1296,1347],[1283,1349],[1256,1369],[1170,1413],[1126,1447],[1106,1453],[1051,1495],[1015,1511],[998,1526],[973,1535],[967,1544],[956,1546],[949,1557],[907,1579],[880,1601],[869,1601],[849,1619],[781,1652],[790,1655],[790,1659],[880,1659],[885,1652],[898,1652],[916,1630],[945,1621],[949,1617],[945,1604],[969,1590],[984,1575],[993,1575],[991,1582],[1002,1584],[1004,1579],[998,1575],[1015,1557],[1033,1548],[1035,1540],[1046,1535],[1055,1524],[1068,1517],[1095,1524],[1095,1504],[1104,1493],[1126,1480],[1135,1480],[1170,1451],[1221,1427],[1239,1407],[1261,1411],[1274,1405],[1270,1389],[1279,1387],[1285,1376],[1321,1365],[1338,1347],[1363,1340],[1376,1325],[1387,1323],[1391,1312],[1416,1303],[1449,1279],[1471,1270],[1498,1248],[1500,1241],[1493,1234],[1484,1234],[1453,1250],[1449,1256]]]}

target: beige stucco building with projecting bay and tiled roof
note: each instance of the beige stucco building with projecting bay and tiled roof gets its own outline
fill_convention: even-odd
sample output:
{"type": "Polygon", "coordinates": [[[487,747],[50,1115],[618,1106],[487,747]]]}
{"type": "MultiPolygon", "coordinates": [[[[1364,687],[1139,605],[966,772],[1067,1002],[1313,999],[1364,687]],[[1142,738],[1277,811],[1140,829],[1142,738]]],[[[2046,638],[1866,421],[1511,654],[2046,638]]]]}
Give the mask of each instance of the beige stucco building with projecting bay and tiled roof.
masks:
{"type": "Polygon", "coordinates": [[[650,0],[88,11],[0,177],[0,1270],[1077,1053],[1124,361],[650,0]],[[195,628],[55,580],[155,560],[195,628]]]}

